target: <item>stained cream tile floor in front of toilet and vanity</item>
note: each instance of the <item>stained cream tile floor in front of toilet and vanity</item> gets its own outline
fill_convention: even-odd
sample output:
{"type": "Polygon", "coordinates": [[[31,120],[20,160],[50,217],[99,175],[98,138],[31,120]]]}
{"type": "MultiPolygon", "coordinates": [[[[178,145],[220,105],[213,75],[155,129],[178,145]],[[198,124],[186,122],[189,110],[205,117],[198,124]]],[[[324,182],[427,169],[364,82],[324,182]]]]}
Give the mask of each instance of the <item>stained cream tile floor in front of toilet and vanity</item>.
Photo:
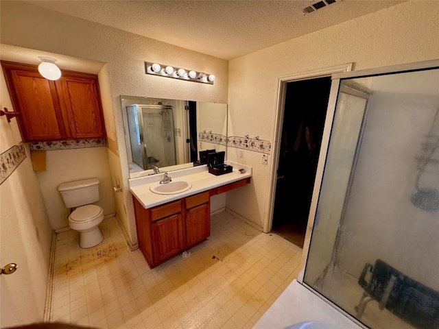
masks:
{"type": "Polygon", "coordinates": [[[81,249],[78,232],[56,236],[50,321],[92,328],[252,328],[297,278],[302,249],[259,232],[229,212],[211,217],[211,236],[150,269],[130,251],[117,219],[104,241],[81,249]]]}

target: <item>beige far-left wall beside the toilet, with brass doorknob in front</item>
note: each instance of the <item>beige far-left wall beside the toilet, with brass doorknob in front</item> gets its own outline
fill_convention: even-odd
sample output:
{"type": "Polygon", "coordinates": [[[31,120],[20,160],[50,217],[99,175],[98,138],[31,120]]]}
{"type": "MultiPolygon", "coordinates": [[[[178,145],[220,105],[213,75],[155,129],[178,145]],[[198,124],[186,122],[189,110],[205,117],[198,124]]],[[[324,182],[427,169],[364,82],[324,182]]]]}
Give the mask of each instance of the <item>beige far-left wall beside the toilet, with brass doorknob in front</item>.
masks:
{"type": "MultiPolygon", "coordinates": [[[[12,103],[0,71],[1,108],[12,103]]],[[[0,153],[21,142],[16,119],[0,117],[0,153]]],[[[29,158],[0,185],[0,264],[19,269],[0,276],[0,327],[43,321],[51,247],[51,226],[29,158]],[[21,310],[21,311],[17,311],[21,310]]]]}

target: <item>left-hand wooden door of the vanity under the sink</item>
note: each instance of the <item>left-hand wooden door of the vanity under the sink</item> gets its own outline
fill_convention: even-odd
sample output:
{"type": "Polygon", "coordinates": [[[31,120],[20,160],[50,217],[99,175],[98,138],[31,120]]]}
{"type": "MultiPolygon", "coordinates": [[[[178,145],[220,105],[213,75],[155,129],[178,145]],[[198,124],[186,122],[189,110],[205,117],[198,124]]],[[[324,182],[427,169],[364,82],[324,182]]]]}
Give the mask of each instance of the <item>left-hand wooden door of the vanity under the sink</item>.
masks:
{"type": "Polygon", "coordinates": [[[153,221],[152,236],[154,264],[181,252],[184,249],[181,214],[153,221]]]}

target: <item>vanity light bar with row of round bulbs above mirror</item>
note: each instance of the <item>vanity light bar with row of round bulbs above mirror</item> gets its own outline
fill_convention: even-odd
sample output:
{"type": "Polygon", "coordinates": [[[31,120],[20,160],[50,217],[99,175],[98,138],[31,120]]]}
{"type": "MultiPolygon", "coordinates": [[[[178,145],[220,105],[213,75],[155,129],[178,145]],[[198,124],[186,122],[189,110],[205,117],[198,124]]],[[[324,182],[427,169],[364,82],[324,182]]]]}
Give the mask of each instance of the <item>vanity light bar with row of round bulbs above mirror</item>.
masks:
{"type": "Polygon", "coordinates": [[[213,74],[152,62],[145,62],[145,71],[146,74],[158,75],[159,77],[174,77],[174,79],[202,82],[203,84],[213,84],[215,81],[213,74]]]}

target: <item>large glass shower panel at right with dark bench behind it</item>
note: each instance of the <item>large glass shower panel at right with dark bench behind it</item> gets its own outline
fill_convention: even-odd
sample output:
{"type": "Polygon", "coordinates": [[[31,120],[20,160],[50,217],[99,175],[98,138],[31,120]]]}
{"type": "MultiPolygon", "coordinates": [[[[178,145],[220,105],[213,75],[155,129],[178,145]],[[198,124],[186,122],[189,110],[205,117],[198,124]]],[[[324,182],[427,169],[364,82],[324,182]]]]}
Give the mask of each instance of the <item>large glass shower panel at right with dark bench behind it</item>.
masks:
{"type": "Polygon", "coordinates": [[[439,69],[340,81],[303,282],[370,328],[439,328],[439,69]]]}

